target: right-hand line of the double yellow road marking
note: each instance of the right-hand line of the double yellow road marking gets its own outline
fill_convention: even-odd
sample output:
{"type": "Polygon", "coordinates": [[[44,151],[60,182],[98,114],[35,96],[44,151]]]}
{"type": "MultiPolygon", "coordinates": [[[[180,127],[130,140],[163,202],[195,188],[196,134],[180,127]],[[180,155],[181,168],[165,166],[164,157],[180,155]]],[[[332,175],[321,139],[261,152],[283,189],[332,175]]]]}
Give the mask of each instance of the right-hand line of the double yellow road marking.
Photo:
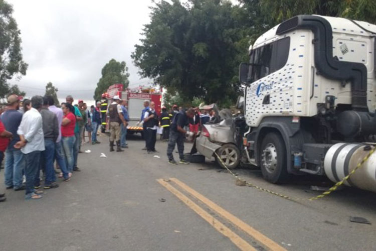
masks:
{"type": "Polygon", "coordinates": [[[212,208],[214,211],[216,211],[218,214],[220,214],[222,217],[226,218],[227,220],[232,222],[234,225],[238,226],[240,229],[242,229],[243,231],[245,231],[246,233],[251,235],[253,238],[258,240],[260,243],[267,246],[270,250],[286,250],[285,248],[280,246],[277,242],[271,240],[270,238],[268,238],[264,234],[260,233],[255,228],[251,227],[250,225],[248,225],[247,223],[245,223],[244,221],[242,221],[241,219],[239,219],[235,215],[226,211],[225,209],[223,209],[222,207],[220,207],[219,205],[217,205],[216,203],[214,203],[210,199],[206,198],[205,196],[203,196],[202,194],[200,194],[196,190],[187,186],[183,182],[179,181],[176,178],[171,178],[170,180],[175,182],[179,187],[181,187],[185,191],[189,192],[190,194],[192,194],[197,199],[201,200],[204,204],[206,204],[207,206],[212,208]]]}

